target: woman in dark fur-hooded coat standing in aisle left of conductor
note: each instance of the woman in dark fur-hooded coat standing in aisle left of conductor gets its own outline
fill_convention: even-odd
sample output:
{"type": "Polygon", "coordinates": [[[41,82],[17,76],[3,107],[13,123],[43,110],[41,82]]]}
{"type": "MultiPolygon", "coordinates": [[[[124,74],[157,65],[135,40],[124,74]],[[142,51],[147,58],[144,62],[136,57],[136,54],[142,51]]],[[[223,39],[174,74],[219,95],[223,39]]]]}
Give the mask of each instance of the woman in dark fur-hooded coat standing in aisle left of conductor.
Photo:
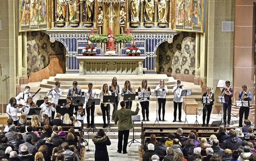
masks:
{"type": "Polygon", "coordinates": [[[109,161],[107,145],[110,145],[111,142],[104,130],[100,129],[92,141],[95,144],[95,161],[109,161]]]}

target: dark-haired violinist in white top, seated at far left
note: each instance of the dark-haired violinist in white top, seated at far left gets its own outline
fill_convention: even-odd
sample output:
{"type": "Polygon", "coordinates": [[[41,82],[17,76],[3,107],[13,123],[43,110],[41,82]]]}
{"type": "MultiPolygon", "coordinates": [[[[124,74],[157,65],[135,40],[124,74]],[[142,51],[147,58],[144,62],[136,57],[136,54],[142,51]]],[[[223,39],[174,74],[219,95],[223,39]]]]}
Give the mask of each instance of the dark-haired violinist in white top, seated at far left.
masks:
{"type": "Polygon", "coordinates": [[[18,123],[18,104],[16,104],[17,100],[16,98],[12,97],[9,101],[9,104],[6,106],[6,114],[8,114],[8,119],[12,118],[13,124],[17,126],[18,123]]]}

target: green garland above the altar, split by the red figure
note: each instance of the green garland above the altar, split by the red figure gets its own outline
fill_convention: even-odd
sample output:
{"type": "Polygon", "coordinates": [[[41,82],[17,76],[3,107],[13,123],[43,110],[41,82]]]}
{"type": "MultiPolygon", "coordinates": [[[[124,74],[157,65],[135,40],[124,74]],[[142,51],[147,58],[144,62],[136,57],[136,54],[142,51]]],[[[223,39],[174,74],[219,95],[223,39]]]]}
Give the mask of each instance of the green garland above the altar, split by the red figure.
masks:
{"type": "MultiPolygon", "coordinates": [[[[104,34],[95,34],[90,35],[88,38],[89,41],[92,43],[108,43],[108,35],[104,34]]],[[[133,40],[132,35],[123,35],[123,34],[117,34],[114,35],[114,43],[128,43],[133,40]]]]}

